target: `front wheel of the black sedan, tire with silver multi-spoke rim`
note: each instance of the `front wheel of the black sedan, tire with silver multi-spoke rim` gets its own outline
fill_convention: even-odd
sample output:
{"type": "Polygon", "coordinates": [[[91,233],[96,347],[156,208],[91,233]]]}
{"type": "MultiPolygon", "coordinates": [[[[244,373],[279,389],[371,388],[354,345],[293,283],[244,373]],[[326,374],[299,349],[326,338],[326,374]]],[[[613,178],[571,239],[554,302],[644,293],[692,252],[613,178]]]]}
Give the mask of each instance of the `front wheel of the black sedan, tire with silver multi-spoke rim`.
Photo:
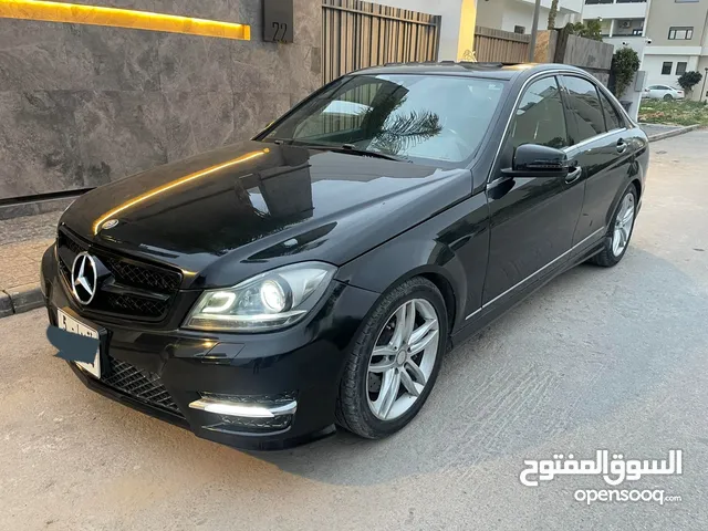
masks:
{"type": "MultiPolygon", "coordinates": [[[[447,342],[445,299],[433,282],[416,277],[391,289],[382,296],[353,341],[354,346],[340,381],[335,408],[337,424],[368,439],[387,437],[406,426],[418,414],[435,385],[447,342]],[[399,332],[405,329],[403,323],[410,312],[415,315],[410,343],[415,343],[416,333],[427,341],[425,350],[415,355],[409,353],[415,348],[407,348],[407,340],[397,350],[392,346],[403,336],[399,332]],[[433,320],[428,319],[433,315],[437,320],[437,335],[433,333],[433,320]],[[427,332],[426,326],[429,327],[427,332]],[[420,335],[421,332],[426,335],[420,335]],[[391,355],[378,355],[374,352],[375,347],[376,353],[385,352],[391,355]],[[431,354],[433,357],[425,357],[431,354]],[[408,361],[402,362],[403,357],[408,356],[408,361]],[[392,363],[392,368],[383,371],[384,366],[392,363]],[[416,364],[417,371],[412,364],[416,364]],[[403,373],[408,375],[407,378],[403,373]],[[399,387],[392,393],[395,374],[398,374],[399,387]],[[423,387],[419,384],[421,381],[423,387]],[[409,392],[410,386],[418,393],[417,396],[409,392]],[[385,389],[388,393],[384,393],[385,389]],[[387,396],[394,398],[386,400],[387,396]]],[[[423,341],[413,346],[420,344],[423,341]]]]}

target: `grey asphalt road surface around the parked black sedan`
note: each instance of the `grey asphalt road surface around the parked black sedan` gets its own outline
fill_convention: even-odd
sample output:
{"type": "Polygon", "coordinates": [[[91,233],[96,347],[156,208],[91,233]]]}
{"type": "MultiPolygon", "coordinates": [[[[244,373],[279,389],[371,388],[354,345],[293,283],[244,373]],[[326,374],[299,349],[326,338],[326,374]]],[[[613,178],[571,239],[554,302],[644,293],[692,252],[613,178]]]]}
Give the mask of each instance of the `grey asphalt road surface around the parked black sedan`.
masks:
{"type": "Polygon", "coordinates": [[[94,394],[52,357],[43,311],[0,320],[0,529],[708,529],[708,132],[652,145],[632,246],[582,266],[444,362],[384,441],[347,434],[248,455],[94,394]],[[575,501],[600,477],[524,487],[555,452],[665,459],[617,488],[680,502],[575,501]]]}

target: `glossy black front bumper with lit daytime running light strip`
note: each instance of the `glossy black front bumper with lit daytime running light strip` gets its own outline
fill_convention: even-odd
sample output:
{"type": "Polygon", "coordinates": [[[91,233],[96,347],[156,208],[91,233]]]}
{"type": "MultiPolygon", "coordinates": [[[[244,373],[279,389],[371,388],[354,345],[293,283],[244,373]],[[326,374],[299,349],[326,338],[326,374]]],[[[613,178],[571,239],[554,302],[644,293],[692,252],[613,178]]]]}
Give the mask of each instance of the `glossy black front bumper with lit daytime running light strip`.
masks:
{"type": "Polygon", "coordinates": [[[345,356],[378,296],[333,281],[312,316],[283,331],[209,333],[169,323],[160,330],[84,316],[67,295],[53,246],[42,259],[42,290],[52,325],[61,309],[100,331],[101,379],[70,364],[90,388],[198,437],[254,450],[334,433],[345,356]]]}

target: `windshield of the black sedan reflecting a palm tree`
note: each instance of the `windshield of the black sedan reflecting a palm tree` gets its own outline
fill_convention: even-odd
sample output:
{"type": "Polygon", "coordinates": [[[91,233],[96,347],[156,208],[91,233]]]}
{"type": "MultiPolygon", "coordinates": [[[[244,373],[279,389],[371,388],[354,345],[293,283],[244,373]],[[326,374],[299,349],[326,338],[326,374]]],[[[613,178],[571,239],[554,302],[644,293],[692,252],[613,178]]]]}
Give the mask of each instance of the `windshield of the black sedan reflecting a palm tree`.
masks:
{"type": "Polygon", "coordinates": [[[485,137],[503,83],[410,74],[343,77],[262,139],[461,163],[485,137]]]}

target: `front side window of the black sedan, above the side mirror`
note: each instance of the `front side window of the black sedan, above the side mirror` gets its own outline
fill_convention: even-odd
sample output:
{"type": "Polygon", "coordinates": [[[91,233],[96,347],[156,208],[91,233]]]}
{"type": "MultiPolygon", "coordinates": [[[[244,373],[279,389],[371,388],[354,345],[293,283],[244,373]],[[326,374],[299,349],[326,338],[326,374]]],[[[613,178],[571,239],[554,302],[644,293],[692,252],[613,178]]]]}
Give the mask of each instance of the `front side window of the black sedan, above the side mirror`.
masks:
{"type": "Polygon", "coordinates": [[[537,81],[527,88],[517,110],[510,142],[514,149],[522,144],[541,144],[556,149],[569,145],[555,77],[537,81]]]}

